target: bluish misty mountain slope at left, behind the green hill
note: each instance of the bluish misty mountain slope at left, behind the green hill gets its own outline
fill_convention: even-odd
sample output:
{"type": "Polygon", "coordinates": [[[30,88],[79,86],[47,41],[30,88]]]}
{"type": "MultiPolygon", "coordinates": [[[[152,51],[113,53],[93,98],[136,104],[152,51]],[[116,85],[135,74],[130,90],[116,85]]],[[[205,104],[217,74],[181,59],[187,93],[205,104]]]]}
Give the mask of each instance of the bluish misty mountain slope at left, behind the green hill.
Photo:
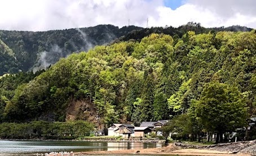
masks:
{"type": "Polygon", "coordinates": [[[46,68],[73,52],[87,51],[139,29],[142,28],[98,25],[47,32],[0,30],[0,75],[46,68]]]}

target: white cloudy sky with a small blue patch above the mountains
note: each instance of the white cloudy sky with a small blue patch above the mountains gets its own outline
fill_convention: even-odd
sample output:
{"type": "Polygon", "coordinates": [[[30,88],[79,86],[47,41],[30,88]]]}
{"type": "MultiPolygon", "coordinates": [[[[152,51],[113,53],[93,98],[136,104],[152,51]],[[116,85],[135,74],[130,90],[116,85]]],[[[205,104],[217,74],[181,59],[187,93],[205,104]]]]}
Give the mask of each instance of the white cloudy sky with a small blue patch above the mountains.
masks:
{"type": "Polygon", "coordinates": [[[255,0],[1,0],[0,29],[52,30],[98,24],[256,28],[255,0]]]}

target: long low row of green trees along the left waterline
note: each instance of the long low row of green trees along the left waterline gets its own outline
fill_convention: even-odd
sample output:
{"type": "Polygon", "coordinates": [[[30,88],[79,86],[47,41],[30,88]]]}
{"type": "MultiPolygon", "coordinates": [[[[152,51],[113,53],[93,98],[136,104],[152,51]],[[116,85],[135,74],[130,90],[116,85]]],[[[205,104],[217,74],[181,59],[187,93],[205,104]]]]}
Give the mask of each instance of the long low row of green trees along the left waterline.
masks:
{"type": "Polygon", "coordinates": [[[76,139],[89,136],[94,126],[85,121],[1,123],[1,139],[76,139]]]}

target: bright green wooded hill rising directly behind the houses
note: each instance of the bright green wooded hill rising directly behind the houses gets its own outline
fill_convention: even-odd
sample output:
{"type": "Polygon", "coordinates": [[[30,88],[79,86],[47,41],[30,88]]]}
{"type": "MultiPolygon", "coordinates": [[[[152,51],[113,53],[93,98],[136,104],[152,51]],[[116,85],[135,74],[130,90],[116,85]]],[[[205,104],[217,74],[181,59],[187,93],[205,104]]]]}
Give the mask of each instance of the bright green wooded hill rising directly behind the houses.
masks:
{"type": "MultiPolygon", "coordinates": [[[[187,113],[195,103],[203,105],[204,99],[220,93],[242,112],[229,106],[231,118],[239,117],[230,124],[243,126],[244,117],[255,115],[255,46],[255,30],[188,31],[175,38],[151,34],[141,41],[96,46],[60,59],[46,71],[2,77],[0,120],[28,122],[47,116],[50,121],[65,121],[71,101],[87,100],[101,123],[138,125],[187,113]]],[[[226,105],[216,109],[222,106],[226,105]]]]}

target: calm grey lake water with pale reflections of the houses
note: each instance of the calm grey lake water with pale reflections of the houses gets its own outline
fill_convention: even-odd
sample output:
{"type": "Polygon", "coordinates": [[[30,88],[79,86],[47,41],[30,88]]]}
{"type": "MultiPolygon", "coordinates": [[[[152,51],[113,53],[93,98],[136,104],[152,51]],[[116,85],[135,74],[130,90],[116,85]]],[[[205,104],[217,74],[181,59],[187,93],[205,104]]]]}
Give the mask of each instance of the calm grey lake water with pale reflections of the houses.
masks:
{"type": "Polygon", "coordinates": [[[162,144],[142,142],[0,141],[0,155],[50,153],[51,151],[103,151],[161,148],[162,144]]]}

